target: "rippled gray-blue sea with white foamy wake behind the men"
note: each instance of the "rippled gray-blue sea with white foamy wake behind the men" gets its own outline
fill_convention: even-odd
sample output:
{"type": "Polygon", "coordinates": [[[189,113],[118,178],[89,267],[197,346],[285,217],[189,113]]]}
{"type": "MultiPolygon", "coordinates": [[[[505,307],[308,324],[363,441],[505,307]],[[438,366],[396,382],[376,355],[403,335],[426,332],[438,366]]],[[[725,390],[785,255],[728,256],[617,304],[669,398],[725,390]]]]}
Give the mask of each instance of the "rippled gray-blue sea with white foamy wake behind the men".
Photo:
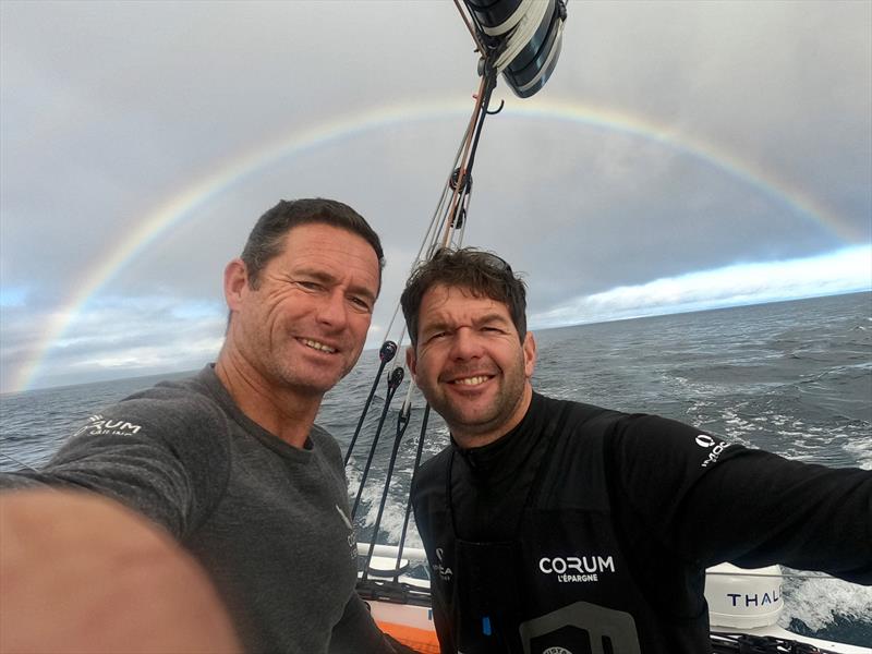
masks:
{"type": "MultiPolygon", "coordinates": [[[[872,470],[872,293],[565,327],[536,332],[536,339],[534,386],[545,395],[657,413],[791,459],[872,470]]],[[[358,367],[325,398],[318,422],[343,448],[378,366],[377,351],[364,352],[358,367]]],[[[38,467],[100,407],[178,376],[182,375],[0,397],[0,470],[38,467]]],[[[396,543],[424,405],[412,391],[403,431],[397,419],[408,383],[385,409],[388,395],[386,382],[379,380],[350,461],[349,493],[353,500],[375,440],[358,514],[360,537],[366,541],[400,434],[377,537],[396,543]],[[379,422],[383,429],[376,438],[379,422]]],[[[425,459],[448,441],[435,414],[427,434],[425,459]]],[[[420,544],[413,525],[409,544],[420,544]]],[[[789,577],[784,597],[783,627],[872,646],[872,589],[829,578],[789,577]]]]}

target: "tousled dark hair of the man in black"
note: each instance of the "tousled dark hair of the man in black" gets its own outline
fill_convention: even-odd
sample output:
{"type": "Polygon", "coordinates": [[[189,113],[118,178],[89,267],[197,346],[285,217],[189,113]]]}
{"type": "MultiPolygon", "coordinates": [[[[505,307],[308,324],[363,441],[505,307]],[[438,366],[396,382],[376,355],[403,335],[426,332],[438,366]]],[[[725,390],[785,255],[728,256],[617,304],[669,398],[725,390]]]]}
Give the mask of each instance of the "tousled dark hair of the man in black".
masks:
{"type": "Polygon", "coordinates": [[[476,298],[489,298],[506,305],[523,342],[526,336],[526,286],[511,266],[492,252],[475,247],[444,249],[421,264],[400,296],[402,314],[412,347],[417,346],[417,324],[424,294],[434,286],[460,287],[476,298]]]}

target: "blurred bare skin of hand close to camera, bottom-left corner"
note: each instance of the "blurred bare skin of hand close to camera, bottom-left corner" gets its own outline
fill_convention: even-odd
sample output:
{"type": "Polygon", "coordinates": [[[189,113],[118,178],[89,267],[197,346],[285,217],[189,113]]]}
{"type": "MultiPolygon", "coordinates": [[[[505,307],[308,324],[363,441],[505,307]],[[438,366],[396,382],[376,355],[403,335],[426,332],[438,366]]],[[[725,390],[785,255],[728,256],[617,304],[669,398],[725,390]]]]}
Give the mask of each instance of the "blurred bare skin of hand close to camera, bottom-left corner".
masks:
{"type": "Polygon", "coordinates": [[[94,494],[0,495],[0,651],[241,652],[199,566],[94,494]]]}

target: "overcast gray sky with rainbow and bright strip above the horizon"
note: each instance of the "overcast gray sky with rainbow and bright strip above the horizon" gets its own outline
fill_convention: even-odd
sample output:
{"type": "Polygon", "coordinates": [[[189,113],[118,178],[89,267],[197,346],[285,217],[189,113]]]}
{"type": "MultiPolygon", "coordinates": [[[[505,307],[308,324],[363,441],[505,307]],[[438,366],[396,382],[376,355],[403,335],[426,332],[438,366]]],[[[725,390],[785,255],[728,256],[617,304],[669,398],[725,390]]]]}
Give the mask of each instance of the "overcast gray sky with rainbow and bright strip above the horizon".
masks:
{"type": "MultiPolygon", "coordinates": [[[[547,327],[872,288],[872,2],[581,2],[497,88],[468,244],[547,327]]],[[[0,388],[198,368],[280,198],[354,206],[380,342],[462,135],[451,2],[0,2],[0,388]]]]}

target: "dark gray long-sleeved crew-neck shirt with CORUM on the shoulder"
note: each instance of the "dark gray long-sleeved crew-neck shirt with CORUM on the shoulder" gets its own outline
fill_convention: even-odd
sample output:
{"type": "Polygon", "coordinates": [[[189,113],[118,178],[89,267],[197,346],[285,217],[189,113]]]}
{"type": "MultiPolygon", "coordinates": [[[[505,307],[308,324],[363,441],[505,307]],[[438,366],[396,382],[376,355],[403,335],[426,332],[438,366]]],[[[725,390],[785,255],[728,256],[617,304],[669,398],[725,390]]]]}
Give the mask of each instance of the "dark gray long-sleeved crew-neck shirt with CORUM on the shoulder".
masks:
{"type": "MultiPolygon", "coordinates": [[[[314,426],[304,449],[249,420],[211,366],[88,419],[38,473],[118,499],[204,565],[246,651],[384,652],[354,592],[356,543],[339,446],[314,426]]],[[[389,650],[387,650],[389,651],[389,650]]]]}

